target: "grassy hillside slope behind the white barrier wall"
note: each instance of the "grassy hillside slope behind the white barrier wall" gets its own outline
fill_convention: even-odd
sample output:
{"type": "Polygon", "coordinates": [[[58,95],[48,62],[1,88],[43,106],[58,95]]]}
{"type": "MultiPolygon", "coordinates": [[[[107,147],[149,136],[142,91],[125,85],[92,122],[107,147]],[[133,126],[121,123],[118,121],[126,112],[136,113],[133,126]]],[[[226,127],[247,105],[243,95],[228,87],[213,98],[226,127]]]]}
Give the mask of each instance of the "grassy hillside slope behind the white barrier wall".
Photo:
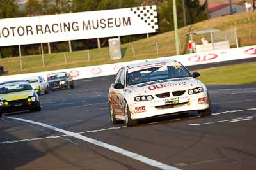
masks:
{"type": "MultiPolygon", "coordinates": [[[[194,25],[188,25],[179,29],[179,38],[181,42],[182,53],[188,53],[188,37],[184,33],[193,30],[202,29],[221,29],[232,30],[236,27],[237,36],[240,46],[256,45],[256,13],[239,13],[237,15],[228,15],[220,18],[213,18],[198,22],[194,25]],[[249,39],[248,30],[251,29],[251,39],[249,39]]],[[[221,37],[221,36],[220,36],[221,37]]],[[[196,42],[200,42],[202,35],[195,36],[196,42]]],[[[223,38],[223,36],[222,36],[223,38]]],[[[230,42],[234,46],[234,41],[230,42]]],[[[0,59],[0,65],[10,74],[33,73],[38,71],[49,71],[55,69],[65,69],[70,67],[84,67],[99,64],[109,64],[113,62],[124,62],[130,60],[150,59],[156,57],[164,57],[175,55],[175,39],[174,32],[166,32],[157,34],[150,38],[141,39],[132,43],[122,45],[121,60],[110,60],[109,48],[90,50],[90,61],[88,61],[87,50],[77,52],[67,52],[67,63],[64,60],[64,53],[52,53],[44,56],[45,66],[42,66],[41,55],[22,56],[22,71],[20,71],[20,57],[10,57],[0,59]],[[158,43],[159,52],[157,53],[156,42],[158,43]],[[132,46],[135,54],[132,52],[132,46]]]]}

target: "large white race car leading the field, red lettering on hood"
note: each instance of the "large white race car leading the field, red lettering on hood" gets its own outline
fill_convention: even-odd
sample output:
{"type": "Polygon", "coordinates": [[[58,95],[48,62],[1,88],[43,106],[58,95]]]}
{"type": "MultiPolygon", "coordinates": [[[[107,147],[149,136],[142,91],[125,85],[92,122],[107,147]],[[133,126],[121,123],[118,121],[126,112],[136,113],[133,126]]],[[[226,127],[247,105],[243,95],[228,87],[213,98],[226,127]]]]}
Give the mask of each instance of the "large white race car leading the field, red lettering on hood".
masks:
{"type": "Polygon", "coordinates": [[[198,111],[211,115],[211,101],[205,85],[175,60],[148,61],[122,67],[109,88],[109,111],[113,124],[165,114],[198,111]]]}

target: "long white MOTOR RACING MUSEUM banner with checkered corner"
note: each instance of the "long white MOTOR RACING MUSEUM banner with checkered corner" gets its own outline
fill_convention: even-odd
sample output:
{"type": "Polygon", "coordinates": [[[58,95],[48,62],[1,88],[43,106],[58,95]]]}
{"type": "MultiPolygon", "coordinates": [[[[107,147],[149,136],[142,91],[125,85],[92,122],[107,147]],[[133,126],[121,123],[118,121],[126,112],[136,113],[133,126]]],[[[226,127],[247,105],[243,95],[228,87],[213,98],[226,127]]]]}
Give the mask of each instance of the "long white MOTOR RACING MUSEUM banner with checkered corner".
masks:
{"type": "Polygon", "coordinates": [[[158,31],[156,6],[7,18],[0,46],[145,34],[158,31]]]}

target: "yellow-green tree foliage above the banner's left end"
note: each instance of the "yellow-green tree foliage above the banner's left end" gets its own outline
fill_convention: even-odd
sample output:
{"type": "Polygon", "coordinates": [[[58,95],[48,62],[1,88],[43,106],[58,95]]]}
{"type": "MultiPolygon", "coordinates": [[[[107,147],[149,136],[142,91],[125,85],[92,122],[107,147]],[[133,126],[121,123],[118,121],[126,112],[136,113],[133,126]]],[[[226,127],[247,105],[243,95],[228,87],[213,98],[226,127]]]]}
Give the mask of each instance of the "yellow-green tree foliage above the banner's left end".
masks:
{"type": "Polygon", "coordinates": [[[19,6],[15,0],[0,1],[0,18],[13,18],[19,15],[19,6]]]}

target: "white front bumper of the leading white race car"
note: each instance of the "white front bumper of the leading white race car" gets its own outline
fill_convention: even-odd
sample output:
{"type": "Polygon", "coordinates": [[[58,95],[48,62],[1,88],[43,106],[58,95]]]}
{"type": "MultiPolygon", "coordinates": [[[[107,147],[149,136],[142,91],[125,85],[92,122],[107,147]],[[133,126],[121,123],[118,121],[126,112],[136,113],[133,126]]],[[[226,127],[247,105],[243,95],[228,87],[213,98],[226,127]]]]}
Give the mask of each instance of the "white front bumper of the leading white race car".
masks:
{"type": "Polygon", "coordinates": [[[141,118],[155,117],[157,115],[206,110],[211,104],[207,92],[177,98],[179,98],[179,103],[168,101],[168,99],[154,99],[153,101],[129,104],[131,119],[138,120],[141,118]]]}

